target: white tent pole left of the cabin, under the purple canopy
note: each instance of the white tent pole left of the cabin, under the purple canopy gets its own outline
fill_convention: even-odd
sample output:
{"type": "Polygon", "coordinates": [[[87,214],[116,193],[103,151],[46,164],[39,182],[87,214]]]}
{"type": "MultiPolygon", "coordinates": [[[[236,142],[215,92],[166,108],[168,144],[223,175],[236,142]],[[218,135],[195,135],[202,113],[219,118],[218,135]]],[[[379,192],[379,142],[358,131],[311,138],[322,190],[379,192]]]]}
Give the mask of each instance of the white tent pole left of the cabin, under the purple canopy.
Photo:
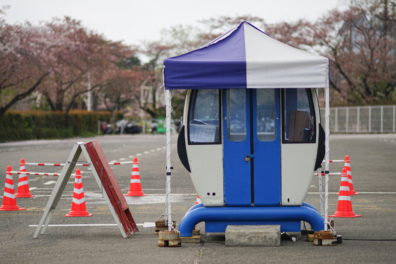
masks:
{"type": "Polygon", "coordinates": [[[171,112],[172,112],[172,94],[170,90],[165,89],[165,107],[166,107],[166,187],[165,187],[165,221],[168,225],[168,231],[172,231],[172,209],[170,199],[170,133],[171,133],[171,112]]]}

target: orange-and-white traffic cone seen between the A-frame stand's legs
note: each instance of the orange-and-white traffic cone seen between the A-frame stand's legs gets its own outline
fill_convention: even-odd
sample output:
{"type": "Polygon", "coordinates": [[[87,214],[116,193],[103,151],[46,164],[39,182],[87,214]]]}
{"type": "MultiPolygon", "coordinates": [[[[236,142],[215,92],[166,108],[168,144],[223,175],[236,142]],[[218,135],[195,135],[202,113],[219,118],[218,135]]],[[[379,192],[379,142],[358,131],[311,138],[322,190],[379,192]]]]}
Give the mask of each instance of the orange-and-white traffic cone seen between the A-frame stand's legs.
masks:
{"type": "Polygon", "coordinates": [[[73,203],[71,204],[71,211],[65,217],[90,217],[92,214],[88,213],[85,207],[83,181],[81,179],[80,169],[76,170],[76,178],[74,180],[73,203]]]}

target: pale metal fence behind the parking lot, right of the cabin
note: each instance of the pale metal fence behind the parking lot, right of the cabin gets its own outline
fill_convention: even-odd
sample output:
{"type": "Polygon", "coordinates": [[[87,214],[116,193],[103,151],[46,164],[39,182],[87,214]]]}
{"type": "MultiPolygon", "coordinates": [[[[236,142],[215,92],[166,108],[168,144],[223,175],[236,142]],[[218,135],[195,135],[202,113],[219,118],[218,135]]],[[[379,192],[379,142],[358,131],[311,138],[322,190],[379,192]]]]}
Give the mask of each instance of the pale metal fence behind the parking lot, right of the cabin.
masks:
{"type": "MultiPolygon", "coordinates": [[[[332,133],[395,133],[396,105],[330,107],[332,133]]],[[[322,126],[325,109],[320,110],[322,126]]]]}

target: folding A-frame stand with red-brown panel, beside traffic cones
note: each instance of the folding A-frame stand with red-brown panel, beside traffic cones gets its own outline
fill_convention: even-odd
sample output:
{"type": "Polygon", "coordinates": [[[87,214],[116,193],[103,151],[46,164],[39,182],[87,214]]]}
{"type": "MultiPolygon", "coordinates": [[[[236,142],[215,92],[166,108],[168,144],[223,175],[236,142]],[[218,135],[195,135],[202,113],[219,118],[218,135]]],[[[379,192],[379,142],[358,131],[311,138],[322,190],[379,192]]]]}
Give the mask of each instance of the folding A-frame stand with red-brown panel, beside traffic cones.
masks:
{"type": "Polygon", "coordinates": [[[55,208],[60,200],[60,196],[66,187],[67,181],[74,170],[75,164],[77,163],[81,152],[87,159],[87,162],[94,174],[96,181],[98,182],[99,188],[102,190],[102,195],[107,202],[110,212],[113,215],[122,236],[126,238],[130,235],[133,235],[135,232],[139,232],[135,220],[129,211],[129,206],[121,192],[120,186],[118,185],[113,172],[110,169],[110,166],[108,165],[99,142],[90,141],[87,143],[77,142],[74,145],[69,157],[67,158],[67,161],[65,162],[65,166],[60,173],[58,181],[53,188],[46,209],[44,210],[43,217],[41,218],[39,226],[37,227],[33,237],[37,238],[40,229],[42,228],[41,234],[45,233],[49,224],[49,220],[51,220],[53,212],[55,211],[55,208]],[[103,192],[103,189],[105,192],[103,192]],[[45,224],[44,221],[46,221],[45,224]]]}

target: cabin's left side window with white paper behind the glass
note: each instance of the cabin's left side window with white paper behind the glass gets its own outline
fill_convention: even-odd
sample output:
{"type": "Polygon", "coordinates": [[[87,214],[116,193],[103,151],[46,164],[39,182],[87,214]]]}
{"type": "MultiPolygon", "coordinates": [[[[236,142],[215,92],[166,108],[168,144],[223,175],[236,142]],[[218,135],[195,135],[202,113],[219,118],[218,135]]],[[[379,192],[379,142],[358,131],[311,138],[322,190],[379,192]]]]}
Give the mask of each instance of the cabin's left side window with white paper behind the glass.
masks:
{"type": "Polygon", "coordinates": [[[218,89],[192,91],[189,114],[189,144],[220,144],[218,89]]]}

